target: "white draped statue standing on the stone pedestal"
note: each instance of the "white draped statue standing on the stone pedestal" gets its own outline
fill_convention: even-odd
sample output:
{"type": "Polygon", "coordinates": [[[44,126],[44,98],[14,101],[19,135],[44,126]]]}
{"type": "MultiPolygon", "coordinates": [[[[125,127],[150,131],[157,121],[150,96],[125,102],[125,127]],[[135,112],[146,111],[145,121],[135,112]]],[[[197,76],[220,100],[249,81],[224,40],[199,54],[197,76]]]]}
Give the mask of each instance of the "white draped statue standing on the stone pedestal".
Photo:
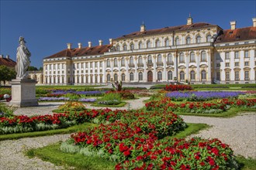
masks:
{"type": "Polygon", "coordinates": [[[26,41],[21,36],[19,37],[19,46],[17,49],[17,60],[16,60],[16,79],[26,79],[28,74],[26,71],[29,68],[31,53],[25,45],[26,41]]]}

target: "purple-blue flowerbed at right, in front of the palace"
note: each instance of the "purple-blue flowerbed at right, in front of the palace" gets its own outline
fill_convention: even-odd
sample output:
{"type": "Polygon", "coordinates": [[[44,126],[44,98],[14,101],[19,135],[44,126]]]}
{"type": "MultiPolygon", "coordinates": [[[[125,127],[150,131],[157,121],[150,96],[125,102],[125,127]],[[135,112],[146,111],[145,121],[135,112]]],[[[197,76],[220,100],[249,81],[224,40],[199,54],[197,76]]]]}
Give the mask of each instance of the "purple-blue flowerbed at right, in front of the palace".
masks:
{"type": "Polygon", "coordinates": [[[170,97],[174,101],[205,101],[219,98],[237,98],[239,95],[245,94],[243,92],[232,91],[189,91],[189,92],[171,92],[167,93],[166,97],[170,97]]]}

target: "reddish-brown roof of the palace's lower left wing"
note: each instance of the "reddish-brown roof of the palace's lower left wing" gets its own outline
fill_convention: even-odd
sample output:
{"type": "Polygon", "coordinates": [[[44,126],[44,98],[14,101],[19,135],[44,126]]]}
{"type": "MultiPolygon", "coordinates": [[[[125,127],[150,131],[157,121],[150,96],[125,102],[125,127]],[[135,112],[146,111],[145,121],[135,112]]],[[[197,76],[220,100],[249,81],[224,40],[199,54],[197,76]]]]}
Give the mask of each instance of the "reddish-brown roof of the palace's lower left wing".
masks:
{"type": "Polygon", "coordinates": [[[103,45],[103,46],[92,46],[84,48],[74,48],[74,49],[64,49],[54,55],[47,56],[44,59],[58,58],[58,57],[74,57],[74,56],[95,56],[101,55],[105,52],[108,52],[112,45],[103,45]]]}

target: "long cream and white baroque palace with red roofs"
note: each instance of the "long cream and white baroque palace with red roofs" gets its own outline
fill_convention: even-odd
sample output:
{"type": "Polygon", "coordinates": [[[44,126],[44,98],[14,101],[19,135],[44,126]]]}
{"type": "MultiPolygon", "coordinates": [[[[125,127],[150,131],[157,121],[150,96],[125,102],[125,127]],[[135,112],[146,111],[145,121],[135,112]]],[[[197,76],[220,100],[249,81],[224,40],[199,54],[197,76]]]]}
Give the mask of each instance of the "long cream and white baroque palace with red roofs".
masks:
{"type": "Polygon", "coordinates": [[[43,84],[256,83],[256,18],[253,26],[230,29],[189,16],[182,26],[140,31],[109,45],[72,47],[43,59],[43,84]]]}

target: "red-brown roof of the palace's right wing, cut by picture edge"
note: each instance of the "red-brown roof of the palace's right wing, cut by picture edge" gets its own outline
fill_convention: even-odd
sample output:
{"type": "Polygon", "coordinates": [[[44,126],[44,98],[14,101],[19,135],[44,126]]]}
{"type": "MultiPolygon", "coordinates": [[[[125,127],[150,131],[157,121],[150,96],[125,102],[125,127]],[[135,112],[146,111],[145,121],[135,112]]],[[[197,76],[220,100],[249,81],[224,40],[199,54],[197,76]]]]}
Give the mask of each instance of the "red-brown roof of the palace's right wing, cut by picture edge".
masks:
{"type": "Polygon", "coordinates": [[[240,29],[225,29],[223,35],[220,35],[216,42],[235,42],[256,39],[256,27],[250,26],[240,29]]]}

